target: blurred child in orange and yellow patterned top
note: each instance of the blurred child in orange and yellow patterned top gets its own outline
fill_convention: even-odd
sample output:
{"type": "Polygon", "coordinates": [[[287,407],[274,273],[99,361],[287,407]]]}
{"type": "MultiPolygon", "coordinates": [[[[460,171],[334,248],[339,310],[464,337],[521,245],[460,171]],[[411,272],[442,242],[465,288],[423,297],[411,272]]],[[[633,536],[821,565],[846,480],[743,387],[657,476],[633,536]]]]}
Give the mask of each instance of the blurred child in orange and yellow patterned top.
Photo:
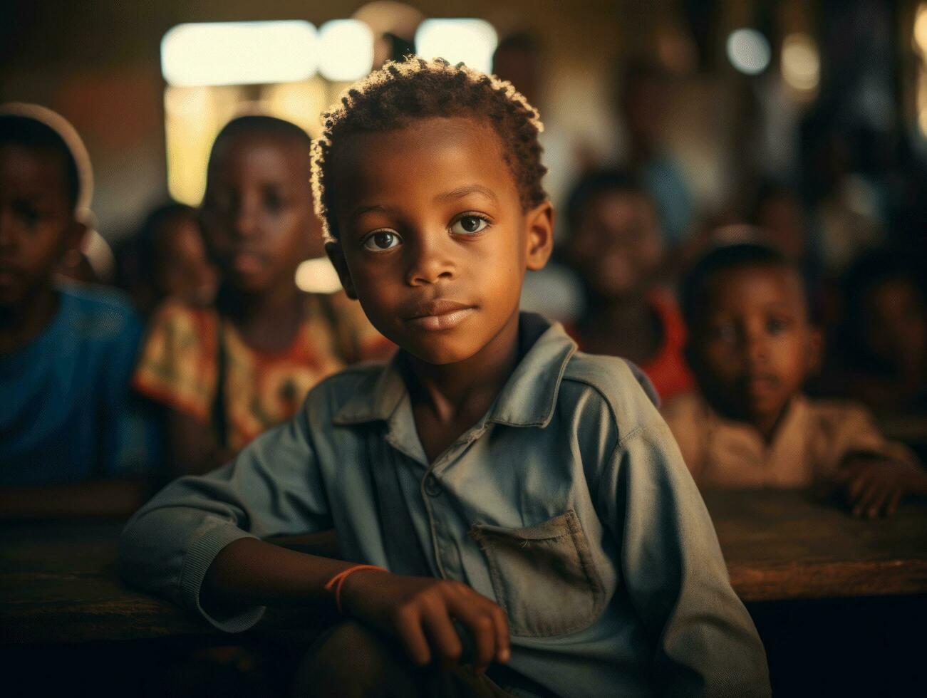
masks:
{"type": "Polygon", "coordinates": [[[357,304],[296,285],[322,245],[310,146],[298,126],[266,116],[229,122],[212,146],[200,221],[220,272],[215,303],[169,300],[133,381],[165,408],[175,472],[224,463],[324,376],[391,347],[357,304]]]}

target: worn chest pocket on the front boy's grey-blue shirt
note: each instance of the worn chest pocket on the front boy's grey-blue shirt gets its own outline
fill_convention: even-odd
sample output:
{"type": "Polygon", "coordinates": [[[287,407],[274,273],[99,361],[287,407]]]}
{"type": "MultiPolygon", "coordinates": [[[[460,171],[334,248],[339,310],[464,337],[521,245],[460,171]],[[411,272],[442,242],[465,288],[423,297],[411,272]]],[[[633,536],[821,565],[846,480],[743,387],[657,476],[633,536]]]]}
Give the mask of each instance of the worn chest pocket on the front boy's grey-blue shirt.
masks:
{"type": "Polygon", "coordinates": [[[513,635],[565,635],[587,628],[602,613],[602,579],[572,509],[528,528],[475,524],[470,535],[486,554],[513,635]]]}

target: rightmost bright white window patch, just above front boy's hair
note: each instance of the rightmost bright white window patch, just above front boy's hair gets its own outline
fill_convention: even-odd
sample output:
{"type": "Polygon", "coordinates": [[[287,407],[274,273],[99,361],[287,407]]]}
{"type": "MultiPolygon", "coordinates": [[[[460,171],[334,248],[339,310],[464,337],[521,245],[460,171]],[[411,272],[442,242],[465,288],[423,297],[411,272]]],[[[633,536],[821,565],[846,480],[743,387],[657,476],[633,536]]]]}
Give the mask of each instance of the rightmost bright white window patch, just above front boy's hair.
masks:
{"type": "Polygon", "coordinates": [[[415,32],[415,53],[425,58],[463,62],[470,68],[492,70],[492,52],[499,36],[483,19],[425,19],[415,32]]]}

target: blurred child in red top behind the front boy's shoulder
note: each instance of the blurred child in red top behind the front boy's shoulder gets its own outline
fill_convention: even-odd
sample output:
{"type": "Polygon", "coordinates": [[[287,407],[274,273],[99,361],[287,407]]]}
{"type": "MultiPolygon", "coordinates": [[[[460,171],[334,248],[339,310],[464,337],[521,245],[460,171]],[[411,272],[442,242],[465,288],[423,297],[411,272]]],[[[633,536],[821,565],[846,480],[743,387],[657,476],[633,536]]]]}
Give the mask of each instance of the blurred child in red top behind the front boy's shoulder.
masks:
{"type": "Polygon", "coordinates": [[[682,317],[657,284],[663,235],[646,190],[626,172],[595,171],[574,189],[566,216],[564,255],[587,292],[571,328],[580,349],[637,363],[664,400],[690,389],[682,317]]]}

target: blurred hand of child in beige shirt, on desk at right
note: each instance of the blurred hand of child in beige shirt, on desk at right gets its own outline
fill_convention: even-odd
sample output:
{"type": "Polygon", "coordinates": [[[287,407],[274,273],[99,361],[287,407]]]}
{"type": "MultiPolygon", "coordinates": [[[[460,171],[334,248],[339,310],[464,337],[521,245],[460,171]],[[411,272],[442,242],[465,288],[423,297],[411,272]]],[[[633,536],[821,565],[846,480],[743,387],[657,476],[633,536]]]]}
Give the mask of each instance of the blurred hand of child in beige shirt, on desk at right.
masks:
{"type": "Polygon", "coordinates": [[[854,516],[874,518],[895,514],[909,492],[924,491],[927,474],[916,465],[869,456],[853,456],[834,476],[854,516]]]}

